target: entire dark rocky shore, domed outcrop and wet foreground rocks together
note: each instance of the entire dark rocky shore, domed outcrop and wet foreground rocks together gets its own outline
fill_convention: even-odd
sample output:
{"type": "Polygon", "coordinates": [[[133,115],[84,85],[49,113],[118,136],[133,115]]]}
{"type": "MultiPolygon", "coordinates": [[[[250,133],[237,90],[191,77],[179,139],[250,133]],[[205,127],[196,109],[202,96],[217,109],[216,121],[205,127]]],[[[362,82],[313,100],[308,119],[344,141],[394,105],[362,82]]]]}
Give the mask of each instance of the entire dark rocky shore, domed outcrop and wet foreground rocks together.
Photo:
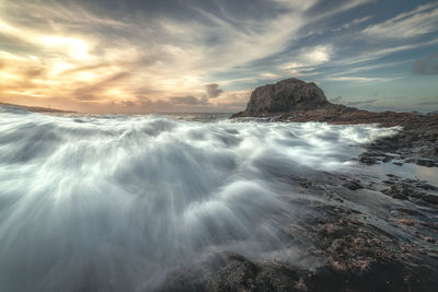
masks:
{"type": "MultiPolygon", "coordinates": [[[[262,86],[231,118],[242,117],[401,126],[396,136],[366,145],[359,162],[438,166],[438,115],[334,105],[314,83],[291,79],[262,86]]],[[[391,172],[384,177],[314,172],[281,179],[306,195],[290,198],[301,208],[283,229],[298,256],[257,260],[222,252],[169,272],[157,291],[436,291],[437,186],[391,172]]]]}

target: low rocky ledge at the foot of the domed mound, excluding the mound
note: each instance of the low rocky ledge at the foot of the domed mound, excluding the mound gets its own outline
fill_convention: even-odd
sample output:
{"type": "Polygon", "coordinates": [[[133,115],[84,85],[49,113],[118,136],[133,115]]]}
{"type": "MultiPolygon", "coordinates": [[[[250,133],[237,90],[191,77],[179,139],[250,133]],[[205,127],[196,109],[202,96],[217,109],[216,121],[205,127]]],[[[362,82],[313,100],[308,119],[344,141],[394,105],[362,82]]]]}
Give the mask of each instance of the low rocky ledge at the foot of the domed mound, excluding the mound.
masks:
{"type": "MultiPolygon", "coordinates": [[[[230,119],[247,117],[242,112],[230,119]]],[[[328,105],[312,110],[264,114],[255,117],[268,118],[278,122],[327,122],[333,125],[367,125],[379,127],[401,126],[394,137],[381,138],[368,144],[360,161],[365,164],[380,162],[415,163],[420,166],[438,167],[438,114],[418,115],[413,113],[382,112],[372,113],[344,105],[328,105]],[[394,155],[389,155],[392,153],[394,155]]]]}

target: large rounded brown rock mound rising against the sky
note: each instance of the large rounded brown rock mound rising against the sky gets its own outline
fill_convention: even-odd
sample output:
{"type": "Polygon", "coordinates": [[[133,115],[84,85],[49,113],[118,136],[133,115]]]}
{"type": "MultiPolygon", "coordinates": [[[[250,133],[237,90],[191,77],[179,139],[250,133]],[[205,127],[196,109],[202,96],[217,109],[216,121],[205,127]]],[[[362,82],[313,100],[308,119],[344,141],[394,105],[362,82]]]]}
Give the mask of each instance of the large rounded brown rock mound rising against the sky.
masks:
{"type": "Polygon", "coordinates": [[[291,110],[310,110],[330,105],[315,83],[291,78],[255,89],[244,112],[233,117],[262,117],[291,110]]]}

